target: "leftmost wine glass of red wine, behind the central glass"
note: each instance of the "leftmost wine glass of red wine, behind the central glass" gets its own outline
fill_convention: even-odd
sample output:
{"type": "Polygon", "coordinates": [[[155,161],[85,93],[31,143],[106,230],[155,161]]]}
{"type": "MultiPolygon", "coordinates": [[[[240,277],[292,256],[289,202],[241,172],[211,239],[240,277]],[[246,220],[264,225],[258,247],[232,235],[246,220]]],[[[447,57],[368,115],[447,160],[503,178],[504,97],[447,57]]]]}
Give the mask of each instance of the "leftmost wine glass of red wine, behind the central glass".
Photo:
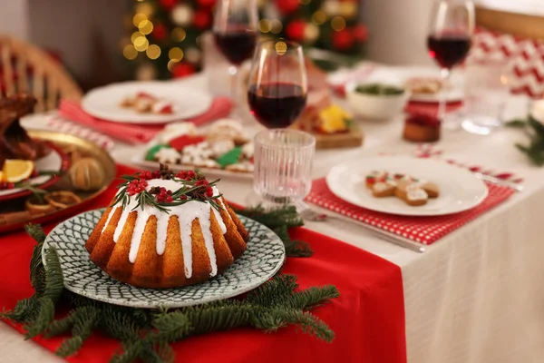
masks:
{"type": "Polygon", "coordinates": [[[231,64],[230,96],[238,103],[238,67],[251,57],[257,44],[257,0],[219,0],[213,22],[213,34],[219,52],[231,64]]]}

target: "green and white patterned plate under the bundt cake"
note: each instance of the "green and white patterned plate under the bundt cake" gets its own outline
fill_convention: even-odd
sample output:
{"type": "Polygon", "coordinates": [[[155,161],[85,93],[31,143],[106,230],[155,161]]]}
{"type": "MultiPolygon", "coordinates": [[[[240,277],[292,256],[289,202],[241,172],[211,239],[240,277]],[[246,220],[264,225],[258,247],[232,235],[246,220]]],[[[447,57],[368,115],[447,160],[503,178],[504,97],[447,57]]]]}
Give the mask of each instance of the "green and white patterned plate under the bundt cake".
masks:
{"type": "Polygon", "coordinates": [[[286,259],[282,240],[264,225],[239,216],[249,231],[248,250],[221,275],[178,289],[141,289],[113,280],[95,266],[85,242],[102,217],[102,210],[86,211],[63,221],[47,236],[42,250],[53,247],[63,268],[64,286],[76,294],[132,308],[180,308],[228,299],[255,289],[270,279],[286,259]]]}

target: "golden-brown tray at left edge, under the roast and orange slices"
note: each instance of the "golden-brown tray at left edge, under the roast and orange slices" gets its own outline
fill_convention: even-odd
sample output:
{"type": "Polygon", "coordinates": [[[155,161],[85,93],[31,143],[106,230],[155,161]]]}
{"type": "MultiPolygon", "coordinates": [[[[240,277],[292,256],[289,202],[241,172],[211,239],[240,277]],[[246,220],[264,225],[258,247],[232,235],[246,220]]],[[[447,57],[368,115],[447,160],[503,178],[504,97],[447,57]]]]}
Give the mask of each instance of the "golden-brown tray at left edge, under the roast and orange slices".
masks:
{"type": "Polygon", "coordinates": [[[32,215],[24,208],[24,202],[28,196],[23,196],[11,201],[4,201],[0,205],[0,233],[20,230],[28,223],[45,223],[48,221],[58,221],[74,212],[81,210],[85,204],[98,197],[106,191],[113,182],[117,167],[110,154],[102,150],[98,145],[81,139],[77,136],[61,132],[28,131],[34,139],[53,142],[53,144],[71,157],[91,157],[101,163],[105,172],[105,178],[102,187],[94,191],[77,191],[73,188],[66,175],[55,182],[53,186],[47,188],[47,191],[73,191],[81,198],[81,202],[68,208],[56,210],[48,214],[32,215]]]}

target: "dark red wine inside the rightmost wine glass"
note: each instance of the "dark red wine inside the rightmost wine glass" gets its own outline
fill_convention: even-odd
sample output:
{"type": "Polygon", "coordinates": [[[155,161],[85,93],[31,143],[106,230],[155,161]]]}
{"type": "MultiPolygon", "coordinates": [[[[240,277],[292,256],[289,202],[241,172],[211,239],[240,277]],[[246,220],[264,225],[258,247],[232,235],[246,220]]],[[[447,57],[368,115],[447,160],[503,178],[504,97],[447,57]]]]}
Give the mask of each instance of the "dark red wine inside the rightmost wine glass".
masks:
{"type": "Polygon", "coordinates": [[[430,35],[427,38],[429,55],[442,68],[452,69],[460,64],[471,49],[471,38],[462,34],[430,35]]]}

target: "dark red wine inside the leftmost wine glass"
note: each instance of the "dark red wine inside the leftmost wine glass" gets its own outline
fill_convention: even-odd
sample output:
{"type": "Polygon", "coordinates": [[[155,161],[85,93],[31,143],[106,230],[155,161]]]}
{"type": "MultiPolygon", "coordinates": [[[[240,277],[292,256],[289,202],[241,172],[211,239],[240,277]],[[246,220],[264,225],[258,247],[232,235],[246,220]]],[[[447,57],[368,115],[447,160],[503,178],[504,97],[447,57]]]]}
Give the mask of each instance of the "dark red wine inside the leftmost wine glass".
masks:
{"type": "Polygon", "coordinates": [[[257,34],[245,28],[232,28],[226,32],[214,34],[219,51],[225,55],[230,64],[242,64],[249,59],[257,44],[257,34]]]}

